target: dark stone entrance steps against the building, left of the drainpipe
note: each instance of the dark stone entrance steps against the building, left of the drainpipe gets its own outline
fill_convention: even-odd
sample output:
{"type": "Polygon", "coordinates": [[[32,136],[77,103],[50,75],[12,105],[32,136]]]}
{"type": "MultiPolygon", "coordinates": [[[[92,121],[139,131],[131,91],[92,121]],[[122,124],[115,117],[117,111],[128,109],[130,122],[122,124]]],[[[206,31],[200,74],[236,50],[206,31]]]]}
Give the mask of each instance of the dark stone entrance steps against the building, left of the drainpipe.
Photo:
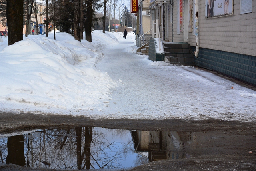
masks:
{"type": "Polygon", "coordinates": [[[176,65],[194,65],[194,56],[190,44],[163,42],[165,58],[176,65]]]}

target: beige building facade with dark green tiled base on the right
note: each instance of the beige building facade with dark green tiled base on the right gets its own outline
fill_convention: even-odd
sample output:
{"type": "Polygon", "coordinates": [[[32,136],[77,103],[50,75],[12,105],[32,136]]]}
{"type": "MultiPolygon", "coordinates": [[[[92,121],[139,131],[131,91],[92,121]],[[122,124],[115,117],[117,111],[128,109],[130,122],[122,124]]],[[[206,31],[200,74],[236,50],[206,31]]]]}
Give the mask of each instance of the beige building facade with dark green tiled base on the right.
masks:
{"type": "Polygon", "coordinates": [[[197,66],[256,85],[256,0],[150,0],[150,10],[163,40],[199,48],[197,66]]]}

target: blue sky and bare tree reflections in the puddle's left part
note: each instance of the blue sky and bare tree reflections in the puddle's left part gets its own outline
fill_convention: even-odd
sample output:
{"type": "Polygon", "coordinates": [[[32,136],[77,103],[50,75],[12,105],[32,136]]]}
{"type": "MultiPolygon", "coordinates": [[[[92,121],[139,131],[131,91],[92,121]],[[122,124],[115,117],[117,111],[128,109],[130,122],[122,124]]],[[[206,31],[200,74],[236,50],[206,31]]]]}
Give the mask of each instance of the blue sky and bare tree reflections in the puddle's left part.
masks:
{"type": "Polygon", "coordinates": [[[140,165],[136,161],[139,157],[134,152],[128,130],[79,127],[36,130],[24,135],[1,137],[0,157],[6,163],[52,169],[127,168],[134,166],[134,163],[140,165]],[[24,151],[17,155],[13,147],[19,145],[20,148],[22,144],[24,151]],[[24,159],[26,164],[22,163],[24,159]]]}

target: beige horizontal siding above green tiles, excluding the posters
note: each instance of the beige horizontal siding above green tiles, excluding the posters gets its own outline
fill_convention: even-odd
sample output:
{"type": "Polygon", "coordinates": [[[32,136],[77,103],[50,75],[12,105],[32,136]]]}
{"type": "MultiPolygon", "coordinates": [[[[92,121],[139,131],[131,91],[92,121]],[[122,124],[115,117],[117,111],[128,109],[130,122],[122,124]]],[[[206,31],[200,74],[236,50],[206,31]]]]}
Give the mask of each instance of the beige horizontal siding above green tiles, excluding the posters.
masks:
{"type": "Polygon", "coordinates": [[[248,14],[240,14],[240,0],[233,2],[233,15],[206,18],[205,0],[200,0],[200,47],[256,56],[256,0],[248,14]]]}

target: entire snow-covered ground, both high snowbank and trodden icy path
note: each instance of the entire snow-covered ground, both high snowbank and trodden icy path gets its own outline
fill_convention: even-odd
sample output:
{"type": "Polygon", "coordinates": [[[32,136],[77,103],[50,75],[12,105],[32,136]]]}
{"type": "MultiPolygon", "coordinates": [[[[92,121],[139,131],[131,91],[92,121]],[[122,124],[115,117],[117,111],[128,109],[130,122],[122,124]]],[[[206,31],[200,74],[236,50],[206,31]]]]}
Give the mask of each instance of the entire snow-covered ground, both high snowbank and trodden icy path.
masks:
{"type": "Polygon", "coordinates": [[[256,91],[191,66],[136,54],[134,34],[95,30],[92,43],[66,33],[0,37],[0,110],[93,119],[256,121],[256,91]]]}

